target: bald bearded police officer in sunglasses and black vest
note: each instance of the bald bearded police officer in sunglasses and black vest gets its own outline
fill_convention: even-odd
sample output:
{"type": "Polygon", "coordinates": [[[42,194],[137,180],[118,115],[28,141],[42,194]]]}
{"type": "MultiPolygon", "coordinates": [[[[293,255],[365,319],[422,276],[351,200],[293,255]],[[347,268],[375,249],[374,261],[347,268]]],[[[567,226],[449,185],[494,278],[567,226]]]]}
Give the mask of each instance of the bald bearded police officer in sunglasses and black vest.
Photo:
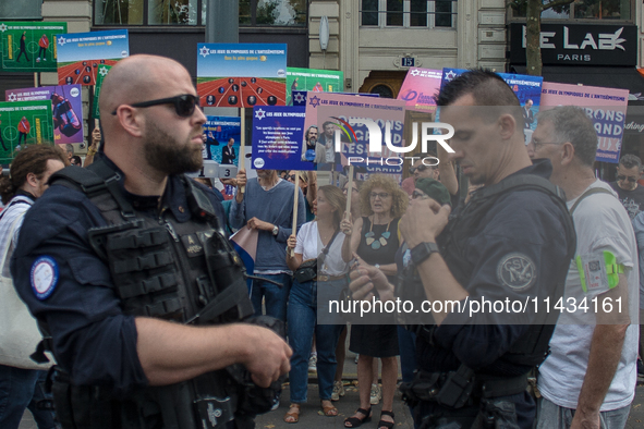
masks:
{"type": "Polygon", "coordinates": [[[197,100],[178,62],[120,61],[104,154],[56,174],[25,218],[38,234],[21,235],[11,271],[52,338],[63,428],[252,428],[279,400],[291,350],[239,322],[253,307],[221,206],[183,174],[203,163],[197,100]]]}

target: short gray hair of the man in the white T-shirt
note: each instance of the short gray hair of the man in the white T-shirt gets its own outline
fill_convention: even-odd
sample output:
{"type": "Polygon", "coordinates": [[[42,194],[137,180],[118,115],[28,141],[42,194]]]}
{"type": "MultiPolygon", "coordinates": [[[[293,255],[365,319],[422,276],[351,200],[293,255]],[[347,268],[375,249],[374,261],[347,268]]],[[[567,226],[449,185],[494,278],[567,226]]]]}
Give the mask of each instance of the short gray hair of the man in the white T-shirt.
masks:
{"type": "Polygon", "coordinates": [[[585,110],[576,106],[558,106],[537,115],[538,122],[552,124],[554,137],[561,143],[570,142],[574,156],[587,167],[593,167],[597,155],[597,132],[585,110]]]}

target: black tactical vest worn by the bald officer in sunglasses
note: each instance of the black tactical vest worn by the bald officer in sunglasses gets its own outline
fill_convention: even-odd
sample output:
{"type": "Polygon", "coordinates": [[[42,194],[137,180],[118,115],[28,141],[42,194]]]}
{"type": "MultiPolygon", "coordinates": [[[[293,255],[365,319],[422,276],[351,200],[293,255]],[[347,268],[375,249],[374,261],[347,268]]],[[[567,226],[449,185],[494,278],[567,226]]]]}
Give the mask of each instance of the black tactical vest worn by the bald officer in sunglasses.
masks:
{"type": "MultiPolygon", "coordinates": [[[[88,238],[109,266],[123,311],[195,326],[253,315],[243,263],[205,193],[182,176],[192,219],[181,223],[167,208],[158,217],[134,209],[119,180],[118,172],[98,160],[88,169],[65,168],[50,183],[85,193],[107,221],[107,226],[90,229],[88,238]]],[[[253,428],[254,416],[276,400],[279,384],[271,388],[256,387],[238,365],[113,397],[107,389],[72,384],[59,370],[53,397],[65,429],[253,428]]]]}

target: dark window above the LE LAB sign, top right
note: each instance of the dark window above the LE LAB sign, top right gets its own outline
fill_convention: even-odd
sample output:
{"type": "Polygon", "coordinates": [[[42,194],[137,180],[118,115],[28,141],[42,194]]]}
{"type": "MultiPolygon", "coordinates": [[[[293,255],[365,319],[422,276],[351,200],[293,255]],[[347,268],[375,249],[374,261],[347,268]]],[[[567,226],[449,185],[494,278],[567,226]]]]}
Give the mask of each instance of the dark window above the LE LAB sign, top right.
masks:
{"type": "MultiPolygon", "coordinates": [[[[549,3],[551,0],[543,0],[549,3]]],[[[512,17],[525,17],[527,0],[510,3],[512,17]]],[[[576,0],[570,4],[551,8],[542,12],[548,20],[619,20],[632,21],[634,4],[632,0],[576,0]]]]}

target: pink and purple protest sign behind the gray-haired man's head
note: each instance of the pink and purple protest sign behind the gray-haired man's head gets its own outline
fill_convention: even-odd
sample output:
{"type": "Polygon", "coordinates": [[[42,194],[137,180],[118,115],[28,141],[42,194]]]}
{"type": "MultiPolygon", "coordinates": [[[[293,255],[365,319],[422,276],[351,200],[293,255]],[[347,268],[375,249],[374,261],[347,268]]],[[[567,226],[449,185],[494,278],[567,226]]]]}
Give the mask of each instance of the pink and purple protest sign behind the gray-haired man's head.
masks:
{"type": "Polygon", "coordinates": [[[543,109],[556,106],[580,106],[593,120],[597,131],[597,161],[619,162],[619,152],[629,103],[628,89],[602,88],[544,82],[543,109]]]}

